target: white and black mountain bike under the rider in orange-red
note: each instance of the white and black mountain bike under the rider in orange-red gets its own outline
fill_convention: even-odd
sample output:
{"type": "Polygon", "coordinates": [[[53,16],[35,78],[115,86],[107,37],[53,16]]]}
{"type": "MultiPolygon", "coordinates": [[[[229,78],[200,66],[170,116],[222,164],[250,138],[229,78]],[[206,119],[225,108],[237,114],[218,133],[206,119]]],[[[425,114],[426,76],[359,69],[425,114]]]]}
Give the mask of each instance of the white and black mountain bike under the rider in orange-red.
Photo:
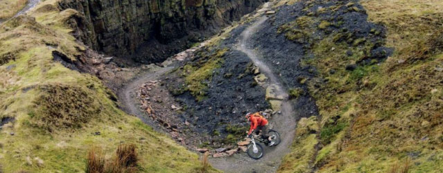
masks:
{"type": "Polygon", "coordinates": [[[248,156],[251,158],[257,160],[262,158],[263,156],[263,147],[260,145],[260,143],[263,143],[266,146],[273,147],[281,142],[280,134],[278,134],[275,130],[269,130],[269,136],[271,136],[271,141],[268,139],[260,138],[257,136],[251,137],[251,143],[248,145],[248,149],[246,149],[246,153],[248,153],[248,156]]]}

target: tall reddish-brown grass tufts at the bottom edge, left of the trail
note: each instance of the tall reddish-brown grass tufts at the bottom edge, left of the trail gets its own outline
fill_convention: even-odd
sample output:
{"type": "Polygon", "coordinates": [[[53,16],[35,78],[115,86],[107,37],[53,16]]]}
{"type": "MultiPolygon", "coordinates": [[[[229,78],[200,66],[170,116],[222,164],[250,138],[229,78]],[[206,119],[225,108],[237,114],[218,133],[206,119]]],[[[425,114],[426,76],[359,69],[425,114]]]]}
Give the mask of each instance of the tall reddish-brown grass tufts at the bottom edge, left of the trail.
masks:
{"type": "Polygon", "coordinates": [[[133,173],[138,172],[136,145],[123,144],[117,147],[116,156],[105,159],[102,149],[93,147],[87,158],[87,173],[133,173]]]}

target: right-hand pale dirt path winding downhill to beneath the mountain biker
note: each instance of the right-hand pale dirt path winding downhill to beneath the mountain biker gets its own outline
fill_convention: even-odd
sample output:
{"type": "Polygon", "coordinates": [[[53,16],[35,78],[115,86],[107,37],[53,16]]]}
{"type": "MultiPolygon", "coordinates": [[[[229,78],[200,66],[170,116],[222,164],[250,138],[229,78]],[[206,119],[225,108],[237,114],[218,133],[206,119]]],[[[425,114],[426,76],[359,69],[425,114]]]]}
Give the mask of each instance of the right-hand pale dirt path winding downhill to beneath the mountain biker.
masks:
{"type": "Polygon", "coordinates": [[[269,78],[271,84],[275,84],[275,93],[283,96],[281,114],[273,116],[271,124],[273,129],[280,132],[282,142],[276,147],[264,147],[264,156],[259,160],[249,158],[247,154],[235,154],[226,158],[212,158],[210,163],[213,167],[223,170],[224,172],[275,172],[281,163],[282,157],[290,150],[293,136],[296,129],[296,116],[288,100],[288,93],[280,84],[278,78],[275,77],[273,71],[264,62],[262,57],[253,50],[249,44],[251,35],[257,32],[257,29],[266,21],[267,17],[260,17],[254,24],[243,31],[238,45],[235,47],[237,51],[242,51],[259,67],[260,71],[269,78]]]}

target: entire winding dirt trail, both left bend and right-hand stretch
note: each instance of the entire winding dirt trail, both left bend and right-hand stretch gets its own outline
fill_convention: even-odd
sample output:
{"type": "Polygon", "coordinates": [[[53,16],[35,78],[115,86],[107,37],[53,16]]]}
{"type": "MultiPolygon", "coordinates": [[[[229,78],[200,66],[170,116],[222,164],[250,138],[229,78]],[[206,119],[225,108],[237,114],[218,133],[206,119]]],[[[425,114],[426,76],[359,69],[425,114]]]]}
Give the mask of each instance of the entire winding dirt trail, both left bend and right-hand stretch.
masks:
{"type": "MultiPolygon", "coordinates": [[[[273,71],[264,62],[261,61],[262,57],[251,48],[249,39],[251,35],[257,32],[261,24],[266,21],[267,17],[260,17],[255,23],[246,28],[242,32],[239,38],[238,44],[233,47],[237,51],[242,51],[253,61],[253,63],[259,67],[260,71],[269,78],[269,83],[277,85],[275,93],[282,95],[281,114],[273,116],[271,124],[273,129],[280,132],[282,136],[282,142],[276,147],[264,147],[264,156],[259,160],[253,160],[249,158],[246,153],[235,154],[230,157],[223,158],[210,158],[210,163],[213,167],[222,170],[224,172],[275,172],[282,160],[282,157],[290,150],[293,136],[296,129],[296,116],[291,106],[291,102],[288,100],[288,94],[284,87],[280,84],[278,78],[273,74],[273,71]]],[[[127,84],[118,91],[118,98],[121,102],[121,106],[124,111],[140,118],[147,125],[156,127],[154,122],[147,119],[141,109],[138,108],[138,102],[136,100],[136,89],[141,84],[156,80],[164,73],[173,69],[174,66],[167,66],[164,68],[155,69],[150,71],[146,75],[141,75],[134,80],[127,82],[127,84]]],[[[157,129],[157,131],[161,131],[157,129]]]]}

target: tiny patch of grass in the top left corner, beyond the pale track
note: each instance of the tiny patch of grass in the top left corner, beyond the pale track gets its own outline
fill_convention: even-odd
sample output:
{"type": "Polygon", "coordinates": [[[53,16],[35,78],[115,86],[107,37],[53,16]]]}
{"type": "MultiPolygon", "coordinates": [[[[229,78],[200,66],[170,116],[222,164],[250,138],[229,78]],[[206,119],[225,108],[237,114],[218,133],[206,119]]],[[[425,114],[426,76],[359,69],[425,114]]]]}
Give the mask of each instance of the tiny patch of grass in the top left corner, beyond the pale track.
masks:
{"type": "Polygon", "coordinates": [[[28,0],[0,0],[0,19],[13,17],[27,2],[28,0]]]}

